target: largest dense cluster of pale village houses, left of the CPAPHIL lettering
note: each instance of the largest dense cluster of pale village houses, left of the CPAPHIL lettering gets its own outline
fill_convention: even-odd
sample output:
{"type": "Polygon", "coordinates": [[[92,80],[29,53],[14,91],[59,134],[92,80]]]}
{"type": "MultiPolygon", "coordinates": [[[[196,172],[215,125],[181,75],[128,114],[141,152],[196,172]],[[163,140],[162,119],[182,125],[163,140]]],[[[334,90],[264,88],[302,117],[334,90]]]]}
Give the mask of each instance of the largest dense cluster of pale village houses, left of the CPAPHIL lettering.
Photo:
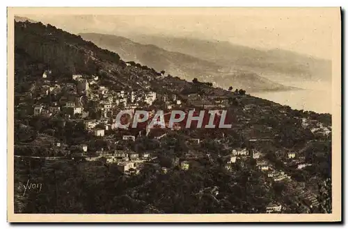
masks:
{"type": "MultiPolygon", "coordinates": [[[[98,76],[72,74],[68,83],[57,83],[50,76],[52,71],[42,74],[40,85],[33,88],[36,105],[33,106],[33,115],[42,117],[61,116],[76,121],[84,121],[85,129],[95,136],[103,137],[105,130],[117,128],[116,115],[120,110],[136,108],[154,110],[150,106],[160,101],[166,109],[180,106],[182,102],[176,94],[157,94],[151,90],[109,90],[100,85],[98,76]],[[42,98],[55,98],[42,102],[42,98]],[[77,120],[80,119],[80,120],[77,120]]],[[[153,115],[153,114],[152,114],[153,115]]]]}

